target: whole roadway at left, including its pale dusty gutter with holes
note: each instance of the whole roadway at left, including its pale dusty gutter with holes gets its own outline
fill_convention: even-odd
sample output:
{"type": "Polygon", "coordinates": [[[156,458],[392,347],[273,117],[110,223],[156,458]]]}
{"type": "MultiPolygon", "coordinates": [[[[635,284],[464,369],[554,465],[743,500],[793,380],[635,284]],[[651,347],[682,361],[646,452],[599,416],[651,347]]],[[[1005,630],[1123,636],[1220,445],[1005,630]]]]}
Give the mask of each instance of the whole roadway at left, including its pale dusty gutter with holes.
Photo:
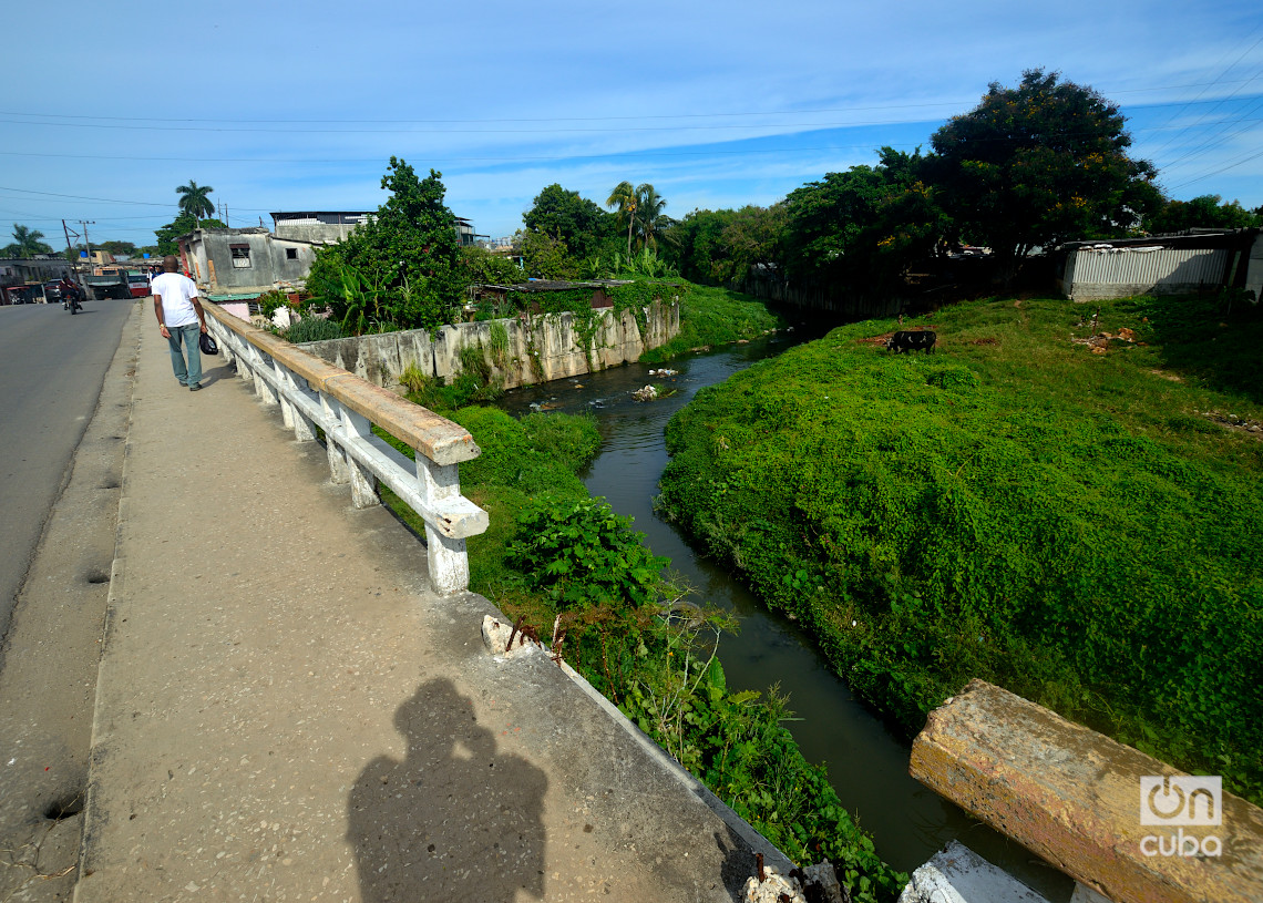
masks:
{"type": "Polygon", "coordinates": [[[0,900],[78,876],[143,312],[0,307],[0,900]]]}

